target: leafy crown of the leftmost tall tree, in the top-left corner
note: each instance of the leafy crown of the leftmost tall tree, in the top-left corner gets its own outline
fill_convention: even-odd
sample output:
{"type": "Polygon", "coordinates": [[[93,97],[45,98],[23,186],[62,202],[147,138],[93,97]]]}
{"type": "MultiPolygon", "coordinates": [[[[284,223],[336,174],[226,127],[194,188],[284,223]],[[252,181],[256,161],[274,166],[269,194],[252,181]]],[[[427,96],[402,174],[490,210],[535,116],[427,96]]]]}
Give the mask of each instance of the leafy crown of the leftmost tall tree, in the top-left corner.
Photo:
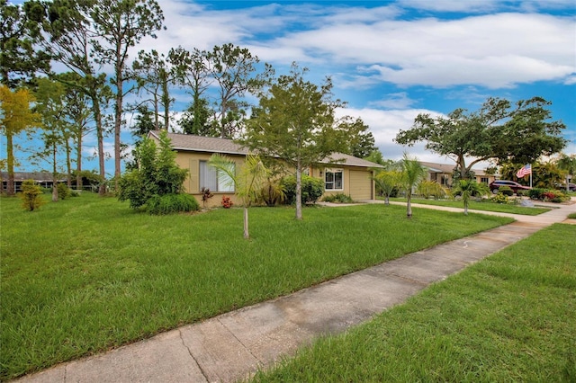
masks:
{"type": "Polygon", "coordinates": [[[0,0],[0,83],[14,89],[49,72],[49,52],[39,49],[44,7],[38,1],[8,4],[0,0]]]}

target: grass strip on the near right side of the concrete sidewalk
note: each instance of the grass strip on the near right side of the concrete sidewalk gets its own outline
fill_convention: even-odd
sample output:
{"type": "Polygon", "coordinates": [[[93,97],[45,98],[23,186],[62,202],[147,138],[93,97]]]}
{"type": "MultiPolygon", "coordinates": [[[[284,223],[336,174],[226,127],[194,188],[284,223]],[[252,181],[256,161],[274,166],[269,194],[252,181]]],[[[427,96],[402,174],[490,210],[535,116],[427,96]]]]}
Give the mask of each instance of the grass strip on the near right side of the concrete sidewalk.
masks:
{"type": "Polygon", "coordinates": [[[554,224],[255,381],[576,381],[576,226],[554,224]]]}

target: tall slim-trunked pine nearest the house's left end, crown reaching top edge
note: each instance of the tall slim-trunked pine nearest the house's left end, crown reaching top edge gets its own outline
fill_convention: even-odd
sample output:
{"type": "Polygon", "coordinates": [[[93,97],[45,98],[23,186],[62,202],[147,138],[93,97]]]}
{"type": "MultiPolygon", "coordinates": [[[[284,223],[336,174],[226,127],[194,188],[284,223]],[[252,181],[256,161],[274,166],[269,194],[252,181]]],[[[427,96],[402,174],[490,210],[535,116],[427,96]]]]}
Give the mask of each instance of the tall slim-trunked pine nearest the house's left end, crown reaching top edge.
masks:
{"type": "Polygon", "coordinates": [[[92,4],[90,16],[98,38],[92,40],[96,62],[113,67],[110,79],[114,92],[114,179],[121,176],[121,126],[124,89],[132,79],[127,69],[131,47],[146,37],[156,37],[162,28],[164,14],[156,0],[99,0],[92,4]]]}

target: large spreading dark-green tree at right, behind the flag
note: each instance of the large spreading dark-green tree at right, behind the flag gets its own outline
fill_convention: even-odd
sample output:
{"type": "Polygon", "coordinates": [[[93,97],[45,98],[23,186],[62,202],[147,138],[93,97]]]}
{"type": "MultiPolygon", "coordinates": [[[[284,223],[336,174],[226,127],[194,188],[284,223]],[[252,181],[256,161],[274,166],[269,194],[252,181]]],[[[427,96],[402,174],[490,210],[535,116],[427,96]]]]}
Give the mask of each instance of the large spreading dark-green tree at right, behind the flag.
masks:
{"type": "Polygon", "coordinates": [[[414,125],[401,130],[395,140],[412,146],[426,142],[426,148],[442,156],[452,156],[461,178],[481,161],[533,163],[540,156],[550,156],[566,145],[562,122],[550,120],[550,105],[541,97],[513,105],[489,98],[479,111],[456,109],[446,117],[419,114],[414,125]],[[465,157],[473,157],[466,165],[465,157]]]}

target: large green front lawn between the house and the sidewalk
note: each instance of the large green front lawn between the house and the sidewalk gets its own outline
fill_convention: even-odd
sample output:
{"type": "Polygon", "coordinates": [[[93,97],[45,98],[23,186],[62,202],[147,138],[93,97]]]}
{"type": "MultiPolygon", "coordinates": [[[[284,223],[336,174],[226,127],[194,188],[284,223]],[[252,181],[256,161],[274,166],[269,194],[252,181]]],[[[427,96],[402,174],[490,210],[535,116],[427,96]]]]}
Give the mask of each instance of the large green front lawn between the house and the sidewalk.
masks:
{"type": "Polygon", "coordinates": [[[103,352],[510,222],[361,205],[139,214],[93,194],[1,199],[0,380],[103,352]]]}

